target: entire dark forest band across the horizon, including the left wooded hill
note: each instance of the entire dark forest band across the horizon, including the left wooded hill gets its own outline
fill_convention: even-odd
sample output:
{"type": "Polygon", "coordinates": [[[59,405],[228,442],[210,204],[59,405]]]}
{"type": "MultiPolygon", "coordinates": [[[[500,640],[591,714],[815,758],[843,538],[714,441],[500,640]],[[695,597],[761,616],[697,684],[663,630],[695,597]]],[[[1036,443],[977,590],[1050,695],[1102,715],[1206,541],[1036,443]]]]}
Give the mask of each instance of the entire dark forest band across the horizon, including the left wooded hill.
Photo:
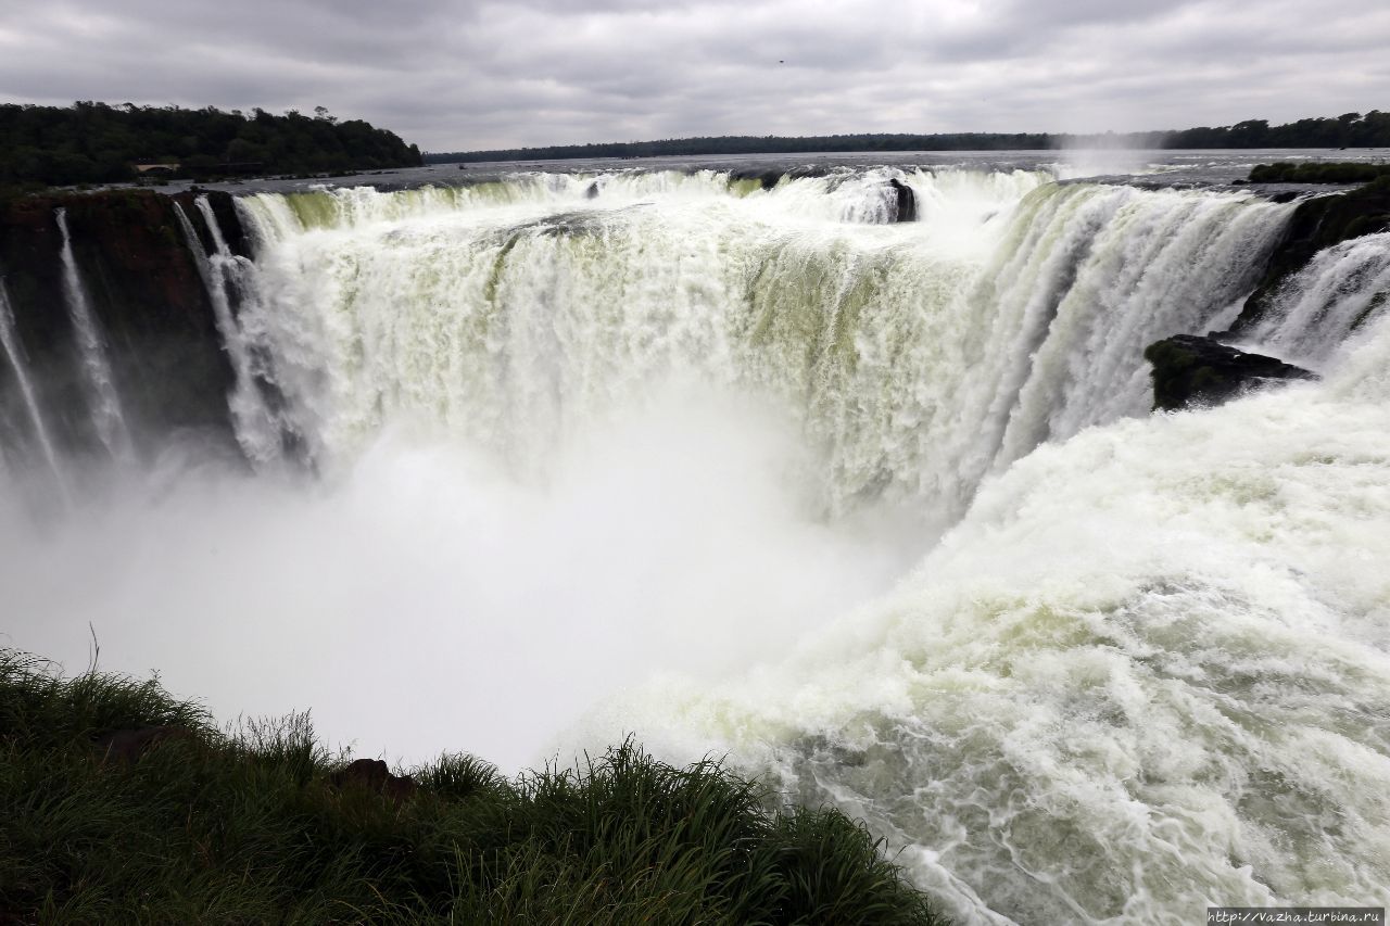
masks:
{"type": "Polygon", "coordinates": [[[414,145],[361,120],[339,121],[324,107],[274,115],[215,107],[70,107],[0,104],[0,188],[117,184],[138,179],[138,164],[167,164],[175,177],[342,174],[423,163],[791,154],[808,152],[1002,152],[1084,146],[1123,147],[1390,147],[1390,113],[1346,113],[1286,125],[1247,120],[1226,127],[1104,135],[955,132],[860,133],[803,138],[726,135],[557,145],[421,156],[414,145]]]}

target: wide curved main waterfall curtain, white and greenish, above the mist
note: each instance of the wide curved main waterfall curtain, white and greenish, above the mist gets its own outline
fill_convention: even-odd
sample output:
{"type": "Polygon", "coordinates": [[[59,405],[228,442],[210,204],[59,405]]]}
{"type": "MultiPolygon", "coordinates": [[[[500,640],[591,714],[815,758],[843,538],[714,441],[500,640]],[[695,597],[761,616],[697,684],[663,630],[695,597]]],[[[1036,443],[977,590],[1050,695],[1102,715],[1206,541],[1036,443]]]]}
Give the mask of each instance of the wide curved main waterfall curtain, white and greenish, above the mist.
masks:
{"type": "Polygon", "coordinates": [[[920,221],[865,224],[887,177],[252,196],[264,348],[320,460],[407,416],[535,469],[696,377],[787,406],[826,510],[945,526],[1041,442],[1147,412],[1144,346],[1229,324],[1291,211],[944,171],[905,175],[920,221]]]}

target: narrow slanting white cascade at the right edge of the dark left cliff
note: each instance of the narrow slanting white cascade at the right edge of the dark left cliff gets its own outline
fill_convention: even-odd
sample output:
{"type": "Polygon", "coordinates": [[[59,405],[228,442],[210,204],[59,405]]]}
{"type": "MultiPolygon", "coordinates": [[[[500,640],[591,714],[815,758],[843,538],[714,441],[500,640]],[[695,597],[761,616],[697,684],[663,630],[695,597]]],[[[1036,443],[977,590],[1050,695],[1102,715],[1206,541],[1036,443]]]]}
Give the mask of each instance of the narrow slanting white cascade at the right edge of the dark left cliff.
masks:
{"type": "Polygon", "coordinates": [[[213,306],[217,331],[222,336],[222,348],[232,360],[235,385],[232,387],[231,396],[228,396],[228,406],[232,413],[232,424],[236,430],[236,441],[249,460],[253,463],[267,463],[279,456],[279,428],[256,384],[252,352],[242,327],[232,314],[232,304],[228,295],[229,292],[240,292],[243,298],[249,298],[250,291],[240,281],[239,264],[227,246],[225,238],[222,238],[221,228],[217,225],[217,216],[213,214],[213,207],[207,202],[207,197],[199,196],[195,202],[213,238],[213,254],[208,254],[207,249],[203,247],[203,242],[183,213],[182,206],[174,203],[174,213],[179,227],[183,229],[183,238],[193,254],[199,277],[203,279],[208,302],[213,306]]]}

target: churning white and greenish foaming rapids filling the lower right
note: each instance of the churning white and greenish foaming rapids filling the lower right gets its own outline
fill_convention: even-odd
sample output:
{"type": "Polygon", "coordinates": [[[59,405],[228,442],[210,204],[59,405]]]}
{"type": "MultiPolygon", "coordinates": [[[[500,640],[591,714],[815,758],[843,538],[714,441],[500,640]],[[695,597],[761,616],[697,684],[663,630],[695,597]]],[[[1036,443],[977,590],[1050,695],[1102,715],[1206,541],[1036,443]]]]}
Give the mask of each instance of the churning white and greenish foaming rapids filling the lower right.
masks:
{"type": "Polygon", "coordinates": [[[894,594],[667,731],[866,816],[966,923],[1390,901],[1390,325],[1298,385],[1044,446],[894,594]]]}

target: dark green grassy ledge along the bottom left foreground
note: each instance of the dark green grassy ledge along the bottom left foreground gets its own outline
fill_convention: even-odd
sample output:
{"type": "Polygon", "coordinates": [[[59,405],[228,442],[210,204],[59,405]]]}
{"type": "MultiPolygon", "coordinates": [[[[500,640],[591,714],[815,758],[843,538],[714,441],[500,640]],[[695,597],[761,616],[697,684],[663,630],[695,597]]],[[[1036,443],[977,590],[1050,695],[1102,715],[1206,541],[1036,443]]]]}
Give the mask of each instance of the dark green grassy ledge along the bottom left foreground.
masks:
{"type": "Polygon", "coordinates": [[[0,649],[0,925],[947,922],[862,826],[717,762],[443,755],[395,793],[345,763],[307,715],[224,734],[157,679],[0,649]]]}

